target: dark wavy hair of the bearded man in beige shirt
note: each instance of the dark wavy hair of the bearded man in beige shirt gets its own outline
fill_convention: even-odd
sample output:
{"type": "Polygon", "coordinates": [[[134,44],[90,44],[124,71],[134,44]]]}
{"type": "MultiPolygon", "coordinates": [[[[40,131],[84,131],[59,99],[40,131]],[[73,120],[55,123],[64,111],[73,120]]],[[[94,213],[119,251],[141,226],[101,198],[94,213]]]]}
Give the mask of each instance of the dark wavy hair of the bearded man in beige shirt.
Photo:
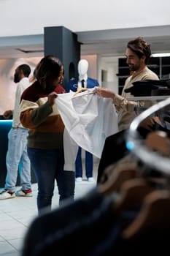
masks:
{"type": "Polygon", "coordinates": [[[137,37],[136,39],[129,41],[127,48],[136,53],[139,59],[141,59],[142,56],[146,56],[145,64],[148,64],[151,56],[150,44],[148,44],[143,37],[137,37]]]}

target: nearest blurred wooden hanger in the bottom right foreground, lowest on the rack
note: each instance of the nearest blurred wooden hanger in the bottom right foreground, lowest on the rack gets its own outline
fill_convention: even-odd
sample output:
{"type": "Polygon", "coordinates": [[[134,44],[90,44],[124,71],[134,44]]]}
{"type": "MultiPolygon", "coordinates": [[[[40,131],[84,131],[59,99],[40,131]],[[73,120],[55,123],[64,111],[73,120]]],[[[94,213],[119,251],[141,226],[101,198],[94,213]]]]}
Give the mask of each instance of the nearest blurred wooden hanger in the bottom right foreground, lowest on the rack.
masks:
{"type": "Polygon", "coordinates": [[[123,238],[140,236],[144,231],[170,227],[170,193],[169,190],[155,190],[144,197],[142,210],[138,217],[123,230],[123,238]]]}

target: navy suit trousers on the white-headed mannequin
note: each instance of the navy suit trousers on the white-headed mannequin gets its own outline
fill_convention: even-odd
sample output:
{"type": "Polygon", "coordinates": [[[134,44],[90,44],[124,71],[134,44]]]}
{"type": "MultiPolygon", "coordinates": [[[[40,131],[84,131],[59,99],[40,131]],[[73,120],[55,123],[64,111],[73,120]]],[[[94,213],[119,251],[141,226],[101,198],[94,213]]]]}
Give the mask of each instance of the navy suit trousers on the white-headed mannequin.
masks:
{"type": "MultiPolygon", "coordinates": [[[[82,148],[79,147],[76,158],[76,178],[82,177],[82,148]]],[[[93,177],[93,154],[85,151],[85,176],[93,177]]]]}

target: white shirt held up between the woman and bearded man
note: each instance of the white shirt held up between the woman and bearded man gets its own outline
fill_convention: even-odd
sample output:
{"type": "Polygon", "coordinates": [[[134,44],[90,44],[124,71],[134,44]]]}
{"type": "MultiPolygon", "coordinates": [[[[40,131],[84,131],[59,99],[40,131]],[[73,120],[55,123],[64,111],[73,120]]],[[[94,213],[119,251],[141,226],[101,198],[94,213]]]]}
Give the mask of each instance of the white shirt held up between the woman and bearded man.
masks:
{"type": "MultiPolygon", "coordinates": [[[[100,158],[105,139],[117,132],[118,127],[112,99],[98,97],[98,94],[93,93],[95,91],[96,88],[88,89],[76,96],[72,91],[58,94],[55,104],[69,133],[67,136],[85,151],[100,158]]],[[[69,140],[65,142],[69,144],[69,140]]],[[[64,148],[68,149],[66,144],[64,148]]]]}

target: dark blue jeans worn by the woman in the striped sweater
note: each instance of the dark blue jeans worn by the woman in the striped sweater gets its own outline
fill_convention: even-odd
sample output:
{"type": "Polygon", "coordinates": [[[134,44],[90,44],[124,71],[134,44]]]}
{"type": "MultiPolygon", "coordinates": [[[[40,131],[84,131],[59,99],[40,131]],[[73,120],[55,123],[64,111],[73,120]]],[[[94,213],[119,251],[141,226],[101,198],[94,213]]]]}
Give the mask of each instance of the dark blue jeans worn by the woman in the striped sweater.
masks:
{"type": "Polygon", "coordinates": [[[52,206],[55,180],[58,185],[59,205],[69,198],[74,200],[74,171],[63,170],[63,150],[28,147],[28,157],[38,183],[37,208],[52,206]]]}

